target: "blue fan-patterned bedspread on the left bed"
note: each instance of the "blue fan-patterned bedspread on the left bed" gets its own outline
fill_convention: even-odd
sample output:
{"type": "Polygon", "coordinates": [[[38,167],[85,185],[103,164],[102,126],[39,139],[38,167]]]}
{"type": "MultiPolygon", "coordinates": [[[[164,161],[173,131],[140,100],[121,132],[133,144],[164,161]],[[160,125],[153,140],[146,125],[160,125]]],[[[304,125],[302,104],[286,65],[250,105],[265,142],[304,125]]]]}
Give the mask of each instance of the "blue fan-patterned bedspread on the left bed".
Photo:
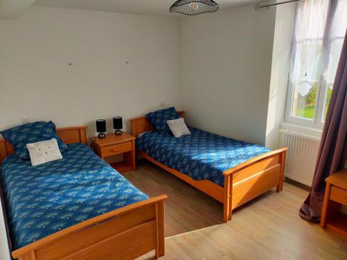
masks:
{"type": "Polygon", "coordinates": [[[40,166],[8,156],[0,167],[12,250],[148,196],[83,144],[40,166]]]}

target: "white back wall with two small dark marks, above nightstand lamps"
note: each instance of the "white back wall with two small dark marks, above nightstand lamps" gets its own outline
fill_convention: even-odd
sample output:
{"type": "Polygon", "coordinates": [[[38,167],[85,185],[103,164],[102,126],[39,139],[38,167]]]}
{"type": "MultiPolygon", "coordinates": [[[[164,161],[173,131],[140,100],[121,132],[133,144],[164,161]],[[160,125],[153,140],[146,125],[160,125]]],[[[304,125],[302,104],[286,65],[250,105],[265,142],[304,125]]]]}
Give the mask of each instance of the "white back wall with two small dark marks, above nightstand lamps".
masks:
{"type": "Polygon", "coordinates": [[[0,130],[28,117],[94,135],[98,118],[111,131],[112,116],[181,107],[176,19],[32,7],[0,39],[0,130]]]}

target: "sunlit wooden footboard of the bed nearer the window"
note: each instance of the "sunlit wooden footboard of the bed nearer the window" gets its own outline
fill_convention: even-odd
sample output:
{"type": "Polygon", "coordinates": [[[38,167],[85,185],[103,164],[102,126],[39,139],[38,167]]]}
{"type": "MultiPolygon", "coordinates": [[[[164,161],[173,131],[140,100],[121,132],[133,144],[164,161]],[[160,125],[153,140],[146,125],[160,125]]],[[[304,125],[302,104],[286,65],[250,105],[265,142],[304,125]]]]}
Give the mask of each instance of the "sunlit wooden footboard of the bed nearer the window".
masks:
{"type": "Polygon", "coordinates": [[[285,154],[288,148],[273,150],[254,157],[223,173],[223,220],[231,220],[232,209],[276,187],[282,191],[285,154]]]}

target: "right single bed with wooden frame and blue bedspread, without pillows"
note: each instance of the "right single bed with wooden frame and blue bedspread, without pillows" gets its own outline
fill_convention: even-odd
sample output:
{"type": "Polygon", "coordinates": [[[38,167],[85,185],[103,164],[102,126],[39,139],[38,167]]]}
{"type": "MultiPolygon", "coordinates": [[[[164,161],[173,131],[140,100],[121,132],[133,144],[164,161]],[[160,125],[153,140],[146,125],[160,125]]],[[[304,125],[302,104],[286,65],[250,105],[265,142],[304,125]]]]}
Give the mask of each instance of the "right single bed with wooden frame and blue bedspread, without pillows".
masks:
{"type": "Polygon", "coordinates": [[[232,209],[273,187],[282,191],[287,148],[270,150],[196,128],[177,139],[160,135],[145,116],[130,123],[132,135],[141,134],[138,154],[222,202],[225,222],[232,209]]]}

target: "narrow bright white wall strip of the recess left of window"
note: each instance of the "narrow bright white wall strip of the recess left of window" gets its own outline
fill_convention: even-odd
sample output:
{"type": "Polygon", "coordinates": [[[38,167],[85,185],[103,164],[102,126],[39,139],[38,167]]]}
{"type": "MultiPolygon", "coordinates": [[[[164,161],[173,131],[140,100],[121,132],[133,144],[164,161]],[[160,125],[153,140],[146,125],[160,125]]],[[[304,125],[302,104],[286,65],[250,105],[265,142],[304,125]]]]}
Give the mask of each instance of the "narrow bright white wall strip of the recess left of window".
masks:
{"type": "Polygon", "coordinates": [[[273,39],[269,109],[267,112],[265,146],[279,147],[280,123],[285,121],[288,87],[289,59],[293,35],[296,3],[286,3],[276,8],[276,26],[273,39]]]}

